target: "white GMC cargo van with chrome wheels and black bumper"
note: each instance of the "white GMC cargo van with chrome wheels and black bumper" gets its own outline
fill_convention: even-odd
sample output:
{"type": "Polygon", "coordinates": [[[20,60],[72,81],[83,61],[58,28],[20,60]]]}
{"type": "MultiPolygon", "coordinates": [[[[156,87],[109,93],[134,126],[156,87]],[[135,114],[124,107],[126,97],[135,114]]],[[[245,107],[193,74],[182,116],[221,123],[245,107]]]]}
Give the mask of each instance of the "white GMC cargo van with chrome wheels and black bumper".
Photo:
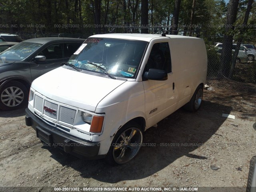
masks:
{"type": "Polygon", "coordinates": [[[124,164],[140,150],[145,130],[184,105],[198,110],[206,71],[200,38],[90,36],[68,63],[34,80],[26,125],[80,158],[124,164]]]}

